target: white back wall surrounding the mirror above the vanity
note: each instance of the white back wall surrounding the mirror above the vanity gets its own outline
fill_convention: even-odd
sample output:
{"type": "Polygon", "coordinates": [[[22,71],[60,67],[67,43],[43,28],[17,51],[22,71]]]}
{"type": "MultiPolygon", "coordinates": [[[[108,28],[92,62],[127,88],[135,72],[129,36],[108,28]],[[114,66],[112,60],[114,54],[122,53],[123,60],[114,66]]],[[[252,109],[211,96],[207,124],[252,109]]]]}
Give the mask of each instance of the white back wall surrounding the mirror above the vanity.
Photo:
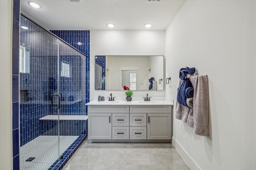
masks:
{"type": "MultiPolygon", "coordinates": [[[[95,55],[164,55],[165,31],[90,31],[90,100],[93,96],[125,96],[124,91],[94,90],[95,55]]],[[[165,91],[136,91],[133,96],[165,96],[165,91]]]]}

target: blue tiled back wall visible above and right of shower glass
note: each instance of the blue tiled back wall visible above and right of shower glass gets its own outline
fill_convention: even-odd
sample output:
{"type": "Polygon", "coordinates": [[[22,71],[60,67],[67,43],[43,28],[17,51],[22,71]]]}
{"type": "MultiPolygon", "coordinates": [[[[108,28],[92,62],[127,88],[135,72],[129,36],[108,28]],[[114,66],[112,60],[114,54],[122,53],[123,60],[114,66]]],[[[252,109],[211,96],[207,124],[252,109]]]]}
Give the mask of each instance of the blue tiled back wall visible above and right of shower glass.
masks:
{"type": "MultiPolygon", "coordinates": [[[[60,37],[66,43],[72,45],[86,58],[86,103],[90,102],[90,31],[89,30],[51,30],[52,33],[60,37]]],[[[86,108],[86,115],[87,115],[86,108]]]]}

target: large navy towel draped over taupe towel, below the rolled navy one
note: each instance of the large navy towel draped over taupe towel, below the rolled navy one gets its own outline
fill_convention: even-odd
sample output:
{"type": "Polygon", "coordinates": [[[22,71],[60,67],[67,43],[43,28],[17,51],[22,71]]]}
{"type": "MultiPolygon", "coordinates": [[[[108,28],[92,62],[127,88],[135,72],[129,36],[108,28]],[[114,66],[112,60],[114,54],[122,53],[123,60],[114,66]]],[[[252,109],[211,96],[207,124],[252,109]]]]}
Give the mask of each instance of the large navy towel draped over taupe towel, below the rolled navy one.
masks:
{"type": "Polygon", "coordinates": [[[186,78],[182,82],[180,87],[178,87],[178,92],[177,92],[177,102],[186,107],[189,107],[186,102],[186,99],[187,99],[186,98],[186,88],[189,88],[189,87],[193,87],[193,86],[192,86],[192,83],[190,82],[189,78],[186,78]]]}

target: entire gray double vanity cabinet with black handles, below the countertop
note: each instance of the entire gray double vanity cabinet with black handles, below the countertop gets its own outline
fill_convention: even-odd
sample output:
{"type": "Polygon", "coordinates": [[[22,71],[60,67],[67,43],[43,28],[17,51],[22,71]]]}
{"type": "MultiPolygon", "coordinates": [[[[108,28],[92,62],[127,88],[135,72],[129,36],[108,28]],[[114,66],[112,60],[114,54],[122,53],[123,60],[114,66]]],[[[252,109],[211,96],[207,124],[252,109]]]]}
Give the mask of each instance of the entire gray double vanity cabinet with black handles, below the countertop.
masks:
{"type": "Polygon", "coordinates": [[[172,108],[172,105],[88,105],[88,139],[170,141],[172,108]]]}

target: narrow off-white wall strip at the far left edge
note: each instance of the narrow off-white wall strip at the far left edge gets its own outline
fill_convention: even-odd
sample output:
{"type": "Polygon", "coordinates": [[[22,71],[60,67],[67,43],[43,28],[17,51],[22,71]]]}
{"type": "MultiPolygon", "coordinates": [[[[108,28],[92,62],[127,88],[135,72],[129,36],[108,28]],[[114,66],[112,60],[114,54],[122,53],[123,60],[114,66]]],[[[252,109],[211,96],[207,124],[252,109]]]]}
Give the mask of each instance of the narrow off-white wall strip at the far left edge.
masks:
{"type": "Polygon", "coordinates": [[[0,170],[12,170],[12,0],[0,0],[0,170]]]}

